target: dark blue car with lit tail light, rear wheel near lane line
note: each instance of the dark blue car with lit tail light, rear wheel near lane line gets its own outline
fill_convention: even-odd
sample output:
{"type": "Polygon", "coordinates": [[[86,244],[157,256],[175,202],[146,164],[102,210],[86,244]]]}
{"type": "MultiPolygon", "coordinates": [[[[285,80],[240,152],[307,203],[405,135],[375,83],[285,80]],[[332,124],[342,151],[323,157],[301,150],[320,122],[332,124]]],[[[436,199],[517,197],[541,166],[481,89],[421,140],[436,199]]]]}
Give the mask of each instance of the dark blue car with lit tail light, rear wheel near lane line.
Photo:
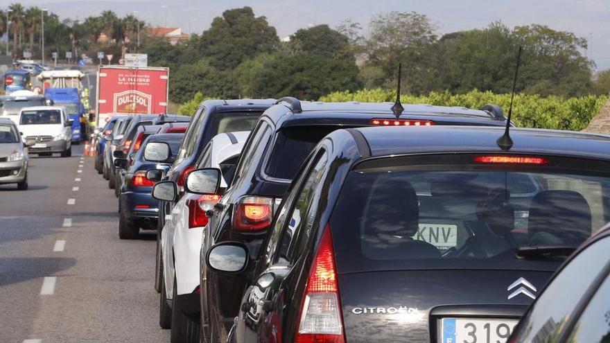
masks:
{"type": "Polygon", "coordinates": [[[152,134],[143,141],[131,166],[127,159],[114,160],[115,165],[122,164],[126,170],[119,195],[119,238],[137,239],[139,229],[157,229],[158,202],[150,193],[155,182],[148,179],[147,172],[151,168],[168,168],[183,138],[184,134],[152,134]],[[163,156],[159,149],[164,150],[163,156]]]}

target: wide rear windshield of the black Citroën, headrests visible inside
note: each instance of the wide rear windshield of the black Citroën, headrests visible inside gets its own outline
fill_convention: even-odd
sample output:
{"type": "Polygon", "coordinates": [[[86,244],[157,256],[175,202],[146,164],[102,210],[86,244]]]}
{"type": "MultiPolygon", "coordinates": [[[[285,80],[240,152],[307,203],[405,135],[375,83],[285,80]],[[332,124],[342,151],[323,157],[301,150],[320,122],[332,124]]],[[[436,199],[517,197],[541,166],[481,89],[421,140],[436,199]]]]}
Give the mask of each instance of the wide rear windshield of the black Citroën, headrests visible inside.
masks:
{"type": "Polygon", "coordinates": [[[607,222],[609,177],[504,168],[351,171],[331,219],[340,272],[527,269],[559,256],[524,247],[577,247],[607,222]]]}

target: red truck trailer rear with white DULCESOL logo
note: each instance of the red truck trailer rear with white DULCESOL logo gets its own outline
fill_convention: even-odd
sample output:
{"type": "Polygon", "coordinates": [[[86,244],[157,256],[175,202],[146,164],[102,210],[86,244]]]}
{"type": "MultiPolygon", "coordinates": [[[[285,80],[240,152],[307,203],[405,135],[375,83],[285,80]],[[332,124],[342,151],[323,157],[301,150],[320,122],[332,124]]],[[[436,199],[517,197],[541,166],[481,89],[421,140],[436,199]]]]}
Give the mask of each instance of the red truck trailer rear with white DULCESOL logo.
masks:
{"type": "Polygon", "coordinates": [[[100,66],[96,127],[115,115],[167,113],[168,78],[165,67],[100,66]]]}

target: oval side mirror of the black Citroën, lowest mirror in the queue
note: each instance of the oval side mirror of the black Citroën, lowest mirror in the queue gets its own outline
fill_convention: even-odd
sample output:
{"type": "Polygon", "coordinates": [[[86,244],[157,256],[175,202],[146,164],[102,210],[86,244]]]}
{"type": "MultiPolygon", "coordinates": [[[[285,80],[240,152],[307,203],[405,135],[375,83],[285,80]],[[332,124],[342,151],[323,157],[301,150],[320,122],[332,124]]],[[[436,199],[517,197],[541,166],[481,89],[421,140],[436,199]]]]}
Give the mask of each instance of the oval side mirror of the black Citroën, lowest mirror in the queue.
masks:
{"type": "Polygon", "coordinates": [[[248,263],[247,248],[239,242],[218,243],[209,249],[205,262],[208,267],[218,272],[243,272],[248,263]]]}

